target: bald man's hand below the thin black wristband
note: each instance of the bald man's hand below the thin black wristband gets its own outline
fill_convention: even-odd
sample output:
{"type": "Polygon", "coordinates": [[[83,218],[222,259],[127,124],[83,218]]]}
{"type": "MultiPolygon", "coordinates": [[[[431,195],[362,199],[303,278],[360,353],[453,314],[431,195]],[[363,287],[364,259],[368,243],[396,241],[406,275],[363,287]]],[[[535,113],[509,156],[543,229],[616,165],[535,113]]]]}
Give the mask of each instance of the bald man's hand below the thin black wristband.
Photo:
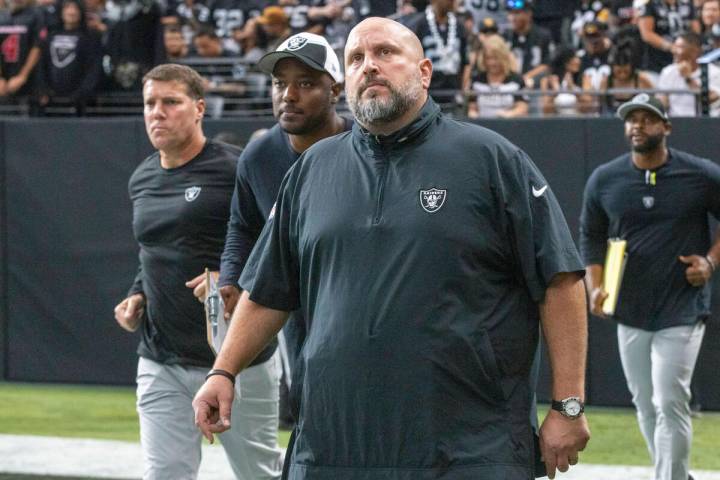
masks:
{"type": "Polygon", "coordinates": [[[205,438],[213,443],[213,434],[230,429],[230,410],[235,389],[232,382],[221,376],[213,375],[205,381],[193,399],[195,426],[205,438]]]}

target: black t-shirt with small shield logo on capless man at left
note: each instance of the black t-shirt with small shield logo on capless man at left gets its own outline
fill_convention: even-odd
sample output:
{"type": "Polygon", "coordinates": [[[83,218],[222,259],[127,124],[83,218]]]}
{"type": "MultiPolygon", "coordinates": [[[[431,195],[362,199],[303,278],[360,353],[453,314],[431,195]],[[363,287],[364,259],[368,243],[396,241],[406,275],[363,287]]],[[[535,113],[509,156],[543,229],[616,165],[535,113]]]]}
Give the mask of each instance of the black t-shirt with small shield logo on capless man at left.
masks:
{"type": "Polygon", "coordinates": [[[140,270],[129,294],[147,299],[138,354],[156,362],[210,367],[205,311],[185,282],[217,270],[240,152],[208,140],[185,165],[166,169],[155,153],[130,177],[140,270]]]}

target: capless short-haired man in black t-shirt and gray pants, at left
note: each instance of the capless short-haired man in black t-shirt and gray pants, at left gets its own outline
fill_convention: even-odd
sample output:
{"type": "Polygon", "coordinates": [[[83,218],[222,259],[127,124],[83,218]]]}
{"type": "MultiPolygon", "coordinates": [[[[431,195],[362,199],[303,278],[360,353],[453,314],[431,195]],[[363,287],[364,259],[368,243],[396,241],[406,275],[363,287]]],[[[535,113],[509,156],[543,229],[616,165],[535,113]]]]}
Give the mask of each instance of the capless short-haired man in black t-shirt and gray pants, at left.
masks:
{"type": "MultiPolygon", "coordinates": [[[[191,401],[213,354],[203,306],[185,281],[219,266],[239,154],[205,138],[203,96],[202,78],[185,66],[161,65],[143,79],[145,127],[158,151],[130,178],[140,268],[115,319],[126,330],[141,328],[137,410],[146,480],[193,479],[200,464],[191,401]]],[[[237,411],[221,441],[238,479],[280,475],[274,349],[237,377],[237,411]]]]}

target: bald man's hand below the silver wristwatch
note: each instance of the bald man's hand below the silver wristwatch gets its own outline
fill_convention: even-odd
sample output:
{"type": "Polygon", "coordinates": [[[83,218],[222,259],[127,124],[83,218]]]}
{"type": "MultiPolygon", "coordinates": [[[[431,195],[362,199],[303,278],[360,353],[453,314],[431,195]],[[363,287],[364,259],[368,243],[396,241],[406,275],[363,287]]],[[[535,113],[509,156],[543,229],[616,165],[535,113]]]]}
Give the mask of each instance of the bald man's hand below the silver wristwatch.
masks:
{"type": "Polygon", "coordinates": [[[588,440],[590,429],[585,415],[571,420],[560,412],[550,410],[540,427],[540,452],[548,477],[555,478],[556,469],[567,472],[571,465],[575,465],[588,440]]]}

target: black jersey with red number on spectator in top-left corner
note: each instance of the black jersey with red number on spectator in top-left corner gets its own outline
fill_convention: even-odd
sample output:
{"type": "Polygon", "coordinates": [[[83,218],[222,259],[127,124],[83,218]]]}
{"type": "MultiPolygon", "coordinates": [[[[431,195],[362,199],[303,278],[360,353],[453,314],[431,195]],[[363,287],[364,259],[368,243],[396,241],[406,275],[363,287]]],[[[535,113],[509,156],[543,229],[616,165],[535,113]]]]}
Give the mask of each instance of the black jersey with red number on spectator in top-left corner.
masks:
{"type": "MultiPolygon", "coordinates": [[[[20,73],[30,50],[40,47],[45,30],[42,17],[32,7],[15,12],[0,9],[0,71],[9,79],[20,73]]],[[[33,70],[34,71],[34,70],[33,70]]],[[[26,93],[33,81],[28,79],[21,92],[26,93]]]]}

